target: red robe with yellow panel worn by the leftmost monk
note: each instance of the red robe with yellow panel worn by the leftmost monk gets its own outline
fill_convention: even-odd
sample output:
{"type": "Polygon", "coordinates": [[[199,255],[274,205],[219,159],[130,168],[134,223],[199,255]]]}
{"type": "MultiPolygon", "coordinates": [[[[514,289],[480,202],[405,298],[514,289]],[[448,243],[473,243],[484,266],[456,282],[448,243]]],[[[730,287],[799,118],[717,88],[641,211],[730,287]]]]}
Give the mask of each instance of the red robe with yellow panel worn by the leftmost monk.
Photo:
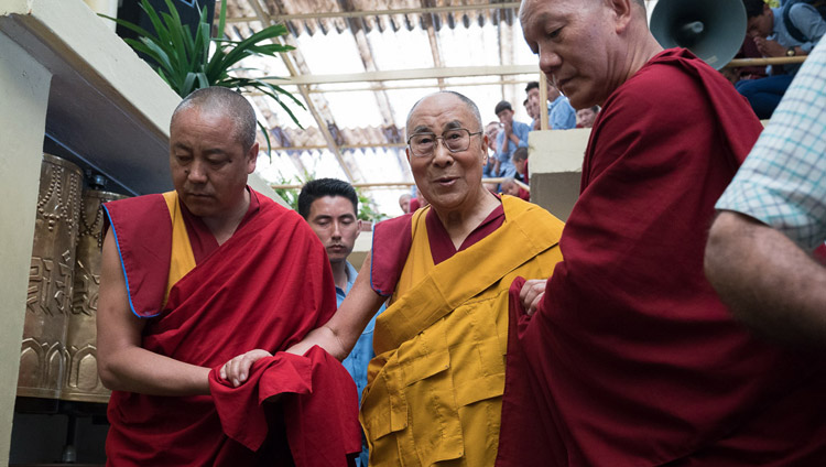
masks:
{"type": "Polygon", "coordinates": [[[339,466],[347,465],[346,452],[359,450],[355,384],[319,348],[262,359],[238,389],[216,374],[244,351],[286,349],[336,309],[317,237],[295,213],[249,192],[247,216],[220,246],[175,192],[106,205],[130,307],[148,319],[142,347],[214,368],[214,395],[112,392],[109,465],[243,466],[292,453],[298,466],[339,466]],[[270,443],[256,454],[268,435],[262,403],[279,393],[290,394],[268,405],[275,413],[270,443]],[[318,436],[326,448],[317,446],[318,436]]]}

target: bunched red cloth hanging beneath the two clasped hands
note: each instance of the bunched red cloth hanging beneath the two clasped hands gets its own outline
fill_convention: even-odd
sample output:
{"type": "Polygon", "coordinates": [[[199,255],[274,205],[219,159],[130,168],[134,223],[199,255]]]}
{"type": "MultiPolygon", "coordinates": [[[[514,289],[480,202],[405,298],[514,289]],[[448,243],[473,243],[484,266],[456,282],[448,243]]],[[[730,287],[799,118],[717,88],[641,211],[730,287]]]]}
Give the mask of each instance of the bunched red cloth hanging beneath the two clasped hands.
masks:
{"type": "Polygon", "coordinates": [[[209,373],[224,433],[258,450],[267,437],[264,401],[281,395],[290,450],[297,467],[347,466],[361,450],[358,397],[341,363],[313,347],[304,356],[278,352],[257,361],[238,388],[209,373]]]}

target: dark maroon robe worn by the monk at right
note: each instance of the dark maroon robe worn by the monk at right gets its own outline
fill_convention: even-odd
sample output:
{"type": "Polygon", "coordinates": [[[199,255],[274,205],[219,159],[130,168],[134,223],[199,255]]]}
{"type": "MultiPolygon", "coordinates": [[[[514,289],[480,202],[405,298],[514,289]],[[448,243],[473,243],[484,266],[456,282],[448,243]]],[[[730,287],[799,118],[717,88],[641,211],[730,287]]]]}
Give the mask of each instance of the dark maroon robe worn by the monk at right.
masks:
{"type": "Polygon", "coordinates": [[[499,465],[826,465],[823,362],[753,337],[703,273],[715,200],[761,130],[686,51],[607,99],[565,260],[531,319],[514,308],[509,383],[533,385],[504,402],[522,411],[499,465]]]}

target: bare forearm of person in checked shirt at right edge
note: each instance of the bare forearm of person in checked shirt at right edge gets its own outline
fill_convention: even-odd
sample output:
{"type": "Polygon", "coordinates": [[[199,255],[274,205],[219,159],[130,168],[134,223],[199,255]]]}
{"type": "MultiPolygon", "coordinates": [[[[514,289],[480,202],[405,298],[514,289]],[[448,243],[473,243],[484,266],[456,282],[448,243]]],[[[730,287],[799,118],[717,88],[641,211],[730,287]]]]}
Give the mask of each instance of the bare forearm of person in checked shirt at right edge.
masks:
{"type": "Polygon", "coordinates": [[[775,339],[824,347],[826,269],[782,232],[722,211],[709,232],[705,271],[738,319],[775,339]]]}

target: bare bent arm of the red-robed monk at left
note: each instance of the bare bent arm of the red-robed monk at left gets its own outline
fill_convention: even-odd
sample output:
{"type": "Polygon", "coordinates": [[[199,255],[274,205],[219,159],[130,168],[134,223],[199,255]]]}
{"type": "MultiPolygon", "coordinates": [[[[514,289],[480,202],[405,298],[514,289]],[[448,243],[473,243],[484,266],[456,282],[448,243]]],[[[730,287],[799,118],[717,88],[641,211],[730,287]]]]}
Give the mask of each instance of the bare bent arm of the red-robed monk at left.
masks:
{"type": "Polygon", "coordinates": [[[209,368],[141,348],[145,324],[129,307],[126,280],[111,230],[104,240],[98,301],[98,372],[109,389],[153,395],[209,393],[209,368]]]}

